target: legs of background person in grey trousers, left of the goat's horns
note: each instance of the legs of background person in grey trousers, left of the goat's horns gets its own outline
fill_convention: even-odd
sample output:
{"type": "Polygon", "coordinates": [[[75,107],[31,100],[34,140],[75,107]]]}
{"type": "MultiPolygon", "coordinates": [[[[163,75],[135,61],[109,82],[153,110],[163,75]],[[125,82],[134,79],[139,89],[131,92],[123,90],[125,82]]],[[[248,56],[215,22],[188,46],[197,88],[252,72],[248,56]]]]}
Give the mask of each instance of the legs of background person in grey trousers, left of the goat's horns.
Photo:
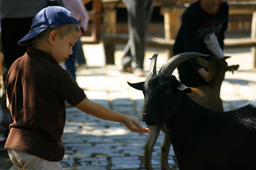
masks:
{"type": "Polygon", "coordinates": [[[154,0],[123,0],[123,2],[128,13],[129,39],[123,50],[120,71],[143,76],[147,29],[154,9],[154,0]]]}

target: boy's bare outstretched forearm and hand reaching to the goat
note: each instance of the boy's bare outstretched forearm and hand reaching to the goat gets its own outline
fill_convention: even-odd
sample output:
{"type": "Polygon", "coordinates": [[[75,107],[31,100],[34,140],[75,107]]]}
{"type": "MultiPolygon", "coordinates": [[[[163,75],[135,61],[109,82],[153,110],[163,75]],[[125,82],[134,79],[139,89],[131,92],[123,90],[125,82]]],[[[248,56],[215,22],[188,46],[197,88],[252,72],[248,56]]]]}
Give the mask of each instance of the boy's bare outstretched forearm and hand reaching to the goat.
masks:
{"type": "Polygon", "coordinates": [[[85,98],[75,107],[99,119],[123,123],[132,132],[150,133],[150,130],[148,128],[142,127],[142,124],[140,124],[140,122],[138,122],[138,120],[134,117],[110,110],[109,108],[99,103],[91,102],[88,98],[85,98]]]}

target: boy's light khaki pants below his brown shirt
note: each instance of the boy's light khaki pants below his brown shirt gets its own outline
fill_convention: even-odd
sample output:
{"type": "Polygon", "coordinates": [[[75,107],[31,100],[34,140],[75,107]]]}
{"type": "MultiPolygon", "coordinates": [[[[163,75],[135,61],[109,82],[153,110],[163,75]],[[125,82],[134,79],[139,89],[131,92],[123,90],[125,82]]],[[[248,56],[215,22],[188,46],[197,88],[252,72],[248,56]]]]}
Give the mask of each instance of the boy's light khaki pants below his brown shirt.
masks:
{"type": "Polygon", "coordinates": [[[12,163],[19,170],[63,170],[60,162],[50,162],[34,155],[9,148],[8,154],[12,163]]]}

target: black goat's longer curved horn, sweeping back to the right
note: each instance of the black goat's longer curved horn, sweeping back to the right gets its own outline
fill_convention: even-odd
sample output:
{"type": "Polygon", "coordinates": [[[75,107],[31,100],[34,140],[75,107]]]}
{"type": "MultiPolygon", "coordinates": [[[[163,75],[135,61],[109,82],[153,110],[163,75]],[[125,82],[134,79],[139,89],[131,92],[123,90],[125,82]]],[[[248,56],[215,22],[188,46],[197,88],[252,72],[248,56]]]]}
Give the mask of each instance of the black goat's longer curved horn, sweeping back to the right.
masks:
{"type": "Polygon", "coordinates": [[[173,71],[183,62],[196,58],[196,57],[209,57],[209,55],[200,54],[196,52],[186,52],[173,56],[167,62],[163,64],[160,68],[159,73],[165,74],[166,76],[171,76],[173,71]]]}

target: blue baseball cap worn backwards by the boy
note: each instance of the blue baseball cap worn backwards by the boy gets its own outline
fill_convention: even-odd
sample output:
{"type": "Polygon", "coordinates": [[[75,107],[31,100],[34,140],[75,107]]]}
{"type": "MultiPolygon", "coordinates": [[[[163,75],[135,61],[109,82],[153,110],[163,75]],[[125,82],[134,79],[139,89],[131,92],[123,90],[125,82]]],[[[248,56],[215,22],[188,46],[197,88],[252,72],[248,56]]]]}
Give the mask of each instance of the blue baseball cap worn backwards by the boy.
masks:
{"type": "Polygon", "coordinates": [[[29,45],[33,43],[33,38],[46,28],[69,23],[79,24],[79,21],[66,8],[59,6],[46,7],[34,16],[29,33],[19,40],[18,44],[20,46],[29,45]]]}

